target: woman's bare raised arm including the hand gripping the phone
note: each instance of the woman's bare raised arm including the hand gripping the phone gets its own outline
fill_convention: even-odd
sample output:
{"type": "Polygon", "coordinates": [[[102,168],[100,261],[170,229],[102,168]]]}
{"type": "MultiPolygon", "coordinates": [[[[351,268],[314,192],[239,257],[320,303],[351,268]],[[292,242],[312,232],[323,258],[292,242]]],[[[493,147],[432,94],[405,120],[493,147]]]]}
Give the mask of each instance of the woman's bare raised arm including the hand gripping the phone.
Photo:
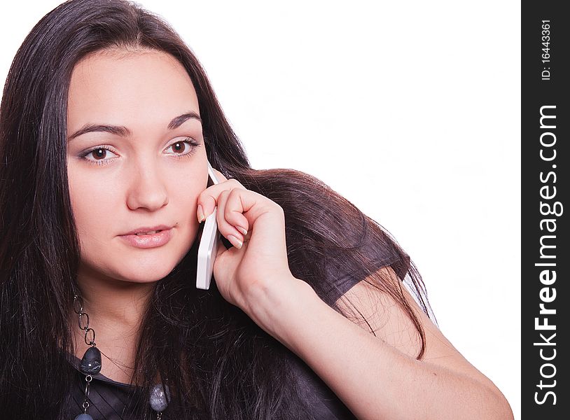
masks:
{"type": "MultiPolygon", "coordinates": [[[[359,419],[513,419],[499,390],[411,297],[427,336],[421,361],[415,358],[415,328],[380,290],[368,290],[361,282],[348,293],[378,337],[329,307],[291,274],[283,209],[216,174],[223,182],[200,194],[197,218],[201,222],[217,206],[218,229],[234,237],[232,248],[218,246],[214,277],[219,292],[303,358],[359,419]]],[[[386,281],[399,282],[391,269],[383,270],[386,281]]]]}

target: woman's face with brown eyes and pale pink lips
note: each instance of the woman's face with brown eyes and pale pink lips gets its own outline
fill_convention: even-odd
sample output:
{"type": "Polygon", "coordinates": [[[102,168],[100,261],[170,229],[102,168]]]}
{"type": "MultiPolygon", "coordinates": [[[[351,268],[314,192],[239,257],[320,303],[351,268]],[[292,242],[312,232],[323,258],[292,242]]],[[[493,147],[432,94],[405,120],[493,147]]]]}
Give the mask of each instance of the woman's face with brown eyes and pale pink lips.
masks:
{"type": "Polygon", "coordinates": [[[195,240],[208,179],[200,109],[183,66],[152,50],[89,55],[71,76],[67,137],[80,278],[162,279],[195,240]],[[141,228],[162,232],[127,235],[141,228]]]}

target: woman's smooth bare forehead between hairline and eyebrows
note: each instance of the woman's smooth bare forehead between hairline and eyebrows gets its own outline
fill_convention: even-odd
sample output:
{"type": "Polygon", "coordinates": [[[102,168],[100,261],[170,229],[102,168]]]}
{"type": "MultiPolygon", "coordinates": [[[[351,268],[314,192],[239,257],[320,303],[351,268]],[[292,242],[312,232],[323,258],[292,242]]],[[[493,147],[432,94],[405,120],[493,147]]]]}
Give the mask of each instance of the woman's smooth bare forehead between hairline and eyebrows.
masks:
{"type": "Polygon", "coordinates": [[[199,115],[196,93],[180,62],[165,52],[97,52],[78,62],[71,75],[68,126],[164,121],[180,111],[199,115]]]}

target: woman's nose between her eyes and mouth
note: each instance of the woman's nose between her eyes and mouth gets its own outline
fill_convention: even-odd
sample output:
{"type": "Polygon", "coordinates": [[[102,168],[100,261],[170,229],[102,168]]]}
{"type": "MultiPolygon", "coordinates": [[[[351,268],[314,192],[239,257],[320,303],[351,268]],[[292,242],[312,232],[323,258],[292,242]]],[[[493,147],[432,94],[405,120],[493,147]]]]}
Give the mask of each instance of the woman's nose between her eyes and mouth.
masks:
{"type": "Polygon", "coordinates": [[[131,210],[147,209],[155,211],[168,204],[165,179],[158,165],[146,161],[133,168],[130,188],[127,192],[127,207],[131,210]]]}

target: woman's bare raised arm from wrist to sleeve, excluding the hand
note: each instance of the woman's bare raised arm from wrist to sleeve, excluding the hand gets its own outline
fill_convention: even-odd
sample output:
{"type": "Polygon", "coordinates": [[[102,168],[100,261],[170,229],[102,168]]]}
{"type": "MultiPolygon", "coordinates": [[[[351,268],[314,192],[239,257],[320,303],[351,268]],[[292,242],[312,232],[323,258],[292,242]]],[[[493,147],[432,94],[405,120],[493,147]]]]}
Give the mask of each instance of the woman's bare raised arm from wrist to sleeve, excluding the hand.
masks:
{"type": "MultiPolygon", "coordinates": [[[[382,268],[399,281],[389,267],[382,268]]],[[[361,282],[347,295],[377,337],[328,307],[304,281],[252,290],[246,312],[305,360],[359,419],[513,419],[499,389],[480,373],[419,309],[419,338],[391,297],[361,282]]]]}

